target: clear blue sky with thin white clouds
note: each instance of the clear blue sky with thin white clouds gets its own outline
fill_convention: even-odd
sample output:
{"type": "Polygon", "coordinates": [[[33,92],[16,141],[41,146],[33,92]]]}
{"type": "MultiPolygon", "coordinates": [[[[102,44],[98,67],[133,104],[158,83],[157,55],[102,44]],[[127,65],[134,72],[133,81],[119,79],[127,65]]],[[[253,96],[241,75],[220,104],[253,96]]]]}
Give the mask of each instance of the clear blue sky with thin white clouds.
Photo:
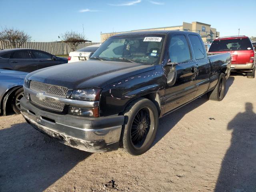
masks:
{"type": "Polygon", "coordinates": [[[66,31],[93,42],[100,32],[203,22],[220,36],[256,36],[256,0],[0,0],[0,27],[24,30],[33,41],[54,41],[66,31]]]}

